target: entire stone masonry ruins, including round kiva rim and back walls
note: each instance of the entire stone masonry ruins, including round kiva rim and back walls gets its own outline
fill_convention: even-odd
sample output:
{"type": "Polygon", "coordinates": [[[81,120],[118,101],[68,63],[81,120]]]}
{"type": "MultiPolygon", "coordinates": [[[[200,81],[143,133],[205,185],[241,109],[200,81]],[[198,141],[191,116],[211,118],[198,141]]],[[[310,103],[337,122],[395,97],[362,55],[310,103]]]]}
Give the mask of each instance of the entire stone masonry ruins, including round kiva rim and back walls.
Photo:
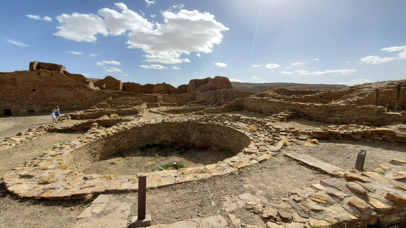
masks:
{"type": "MultiPolygon", "coordinates": [[[[0,143],[3,150],[47,132],[85,132],[4,175],[7,190],[21,198],[91,199],[138,191],[139,176],[147,176],[148,188],[212,178],[272,159],[286,141],[297,145],[317,139],[406,143],[406,80],[254,93],[235,90],[219,76],[175,88],[165,83],[122,83],[110,76],[90,80],[67,72],[62,65],[31,62],[27,71],[0,73],[0,85],[2,116],[48,112],[59,105],[72,111],[65,120],[83,120],[73,126],[41,125],[0,143]],[[232,111],[265,117],[229,114],[232,111]],[[145,120],[146,112],[157,116],[145,120]],[[300,118],[321,126],[285,129],[275,125],[300,118]],[[232,155],[205,166],[133,175],[84,172],[117,151],[150,145],[214,145],[232,155]]],[[[300,155],[285,156],[306,163],[300,155]]],[[[266,220],[266,227],[367,227],[406,219],[406,161],[392,159],[368,172],[319,163],[306,164],[331,178],[290,191],[280,207],[246,201],[244,208],[266,220]]]]}

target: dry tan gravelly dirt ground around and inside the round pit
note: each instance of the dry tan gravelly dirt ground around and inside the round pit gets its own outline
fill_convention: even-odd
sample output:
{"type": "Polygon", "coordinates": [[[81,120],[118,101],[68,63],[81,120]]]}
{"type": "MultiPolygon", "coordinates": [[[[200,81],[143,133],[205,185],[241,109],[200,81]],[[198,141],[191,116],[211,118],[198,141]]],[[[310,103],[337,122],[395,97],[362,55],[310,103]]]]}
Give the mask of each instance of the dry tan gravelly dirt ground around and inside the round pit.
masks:
{"type": "MultiPolygon", "coordinates": [[[[261,116],[248,112],[240,112],[248,117],[261,116]]],[[[153,118],[147,116],[146,118],[153,118]]],[[[0,140],[18,132],[24,132],[30,127],[50,122],[49,115],[23,116],[0,118],[0,140]]],[[[63,123],[70,125],[74,120],[63,123]]],[[[282,127],[313,128],[320,123],[304,120],[290,120],[276,123],[282,127]]],[[[0,151],[0,176],[8,170],[17,167],[41,155],[64,141],[77,138],[83,132],[61,134],[47,133],[37,139],[30,140],[21,146],[0,151]]],[[[352,169],[355,165],[357,153],[360,149],[366,150],[364,163],[365,170],[373,170],[379,164],[388,163],[389,159],[405,159],[406,146],[397,143],[382,143],[374,141],[339,141],[320,140],[319,145],[303,143],[296,145],[290,143],[284,147],[277,156],[265,162],[253,165],[238,172],[204,179],[195,182],[183,183],[147,191],[147,214],[151,214],[152,224],[170,224],[179,220],[222,215],[232,227],[227,212],[220,210],[223,203],[232,197],[250,193],[266,198],[274,204],[282,203],[282,198],[288,197],[290,189],[309,186],[318,183],[321,179],[330,176],[312,170],[283,156],[284,153],[305,153],[324,162],[343,169],[352,169]]],[[[167,150],[166,148],[149,148],[145,151],[124,151],[120,155],[99,162],[89,167],[87,172],[134,172],[132,169],[153,169],[157,165],[182,161],[187,166],[205,164],[204,157],[196,157],[191,153],[195,151],[167,150]],[[157,156],[158,155],[158,156],[157,156]],[[143,156],[137,158],[134,156],[143,156]],[[144,159],[144,160],[137,160],[144,159]],[[159,159],[159,161],[157,161],[159,159]],[[136,166],[134,163],[140,165],[136,166]],[[97,168],[98,167],[98,168],[97,168]],[[101,167],[101,168],[100,168],[101,167]]],[[[211,148],[202,153],[214,161],[223,160],[219,148],[211,148]]],[[[0,179],[0,182],[2,180],[0,179]]],[[[128,223],[132,216],[137,215],[137,193],[114,194],[122,202],[132,204],[128,223]]],[[[88,206],[91,201],[48,201],[19,199],[11,195],[0,184],[0,227],[71,227],[76,217],[88,206]]],[[[265,223],[259,215],[245,209],[237,209],[233,214],[241,219],[241,224],[258,224],[264,227],[265,223]]],[[[403,227],[403,226],[395,226],[403,227]]]]}

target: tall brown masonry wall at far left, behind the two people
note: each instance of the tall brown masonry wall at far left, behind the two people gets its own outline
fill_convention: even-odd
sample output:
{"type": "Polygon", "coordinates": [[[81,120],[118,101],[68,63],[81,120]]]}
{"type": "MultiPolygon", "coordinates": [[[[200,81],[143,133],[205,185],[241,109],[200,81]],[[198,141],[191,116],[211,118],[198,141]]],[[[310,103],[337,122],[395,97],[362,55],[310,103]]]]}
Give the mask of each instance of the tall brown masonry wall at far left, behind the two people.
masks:
{"type": "Polygon", "coordinates": [[[86,109],[108,95],[48,70],[0,72],[0,116],[86,109]]]}

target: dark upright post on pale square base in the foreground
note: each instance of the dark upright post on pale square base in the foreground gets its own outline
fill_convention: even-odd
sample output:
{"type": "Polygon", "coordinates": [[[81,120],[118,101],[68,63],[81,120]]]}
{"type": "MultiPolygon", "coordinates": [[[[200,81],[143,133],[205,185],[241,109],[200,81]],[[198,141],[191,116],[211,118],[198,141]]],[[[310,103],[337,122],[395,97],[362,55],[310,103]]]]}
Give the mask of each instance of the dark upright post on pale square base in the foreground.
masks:
{"type": "Polygon", "coordinates": [[[145,214],[147,203],[147,177],[138,177],[138,216],[133,216],[131,228],[151,225],[151,215],[145,214]]]}

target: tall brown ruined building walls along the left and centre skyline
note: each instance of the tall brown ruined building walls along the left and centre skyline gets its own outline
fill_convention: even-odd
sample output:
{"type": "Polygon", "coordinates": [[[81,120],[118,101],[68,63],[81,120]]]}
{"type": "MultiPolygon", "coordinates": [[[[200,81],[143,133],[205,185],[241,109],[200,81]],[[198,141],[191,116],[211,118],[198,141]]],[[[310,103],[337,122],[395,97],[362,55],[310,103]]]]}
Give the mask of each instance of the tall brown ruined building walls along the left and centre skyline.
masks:
{"type": "MultiPolygon", "coordinates": [[[[224,77],[206,79],[206,84],[191,80],[177,88],[169,84],[122,83],[111,76],[102,80],[88,80],[81,74],[66,71],[63,65],[30,62],[29,70],[0,72],[0,116],[48,112],[59,105],[64,110],[87,109],[108,98],[134,98],[158,102],[153,94],[183,94],[175,98],[179,104],[195,101],[196,92],[231,89],[224,77]],[[219,82],[219,83],[217,83],[219,82]],[[142,94],[142,95],[140,95],[142,94]],[[148,94],[148,95],[145,95],[148,94]]],[[[162,102],[165,102],[165,97],[162,102]]]]}

